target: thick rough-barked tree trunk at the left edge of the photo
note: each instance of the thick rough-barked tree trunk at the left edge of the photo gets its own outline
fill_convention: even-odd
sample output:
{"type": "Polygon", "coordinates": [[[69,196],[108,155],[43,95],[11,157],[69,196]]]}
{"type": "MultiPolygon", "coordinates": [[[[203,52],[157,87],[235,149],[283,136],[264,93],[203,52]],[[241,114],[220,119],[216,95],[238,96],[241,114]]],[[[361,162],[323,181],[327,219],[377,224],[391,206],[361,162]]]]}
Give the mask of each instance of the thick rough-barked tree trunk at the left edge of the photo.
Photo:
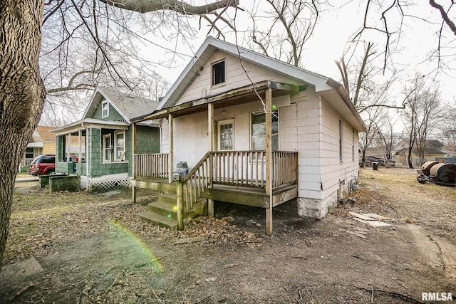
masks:
{"type": "Polygon", "coordinates": [[[43,5],[42,0],[0,0],[0,263],[19,162],[43,110],[38,72],[43,5]]]}

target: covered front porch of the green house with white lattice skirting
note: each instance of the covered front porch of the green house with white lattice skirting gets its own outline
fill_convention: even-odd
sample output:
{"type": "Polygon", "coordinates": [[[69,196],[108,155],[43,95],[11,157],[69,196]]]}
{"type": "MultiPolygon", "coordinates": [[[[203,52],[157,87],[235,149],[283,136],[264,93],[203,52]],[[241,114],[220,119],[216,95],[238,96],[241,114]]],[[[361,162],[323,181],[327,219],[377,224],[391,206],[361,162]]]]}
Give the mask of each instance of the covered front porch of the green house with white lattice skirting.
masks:
{"type": "Polygon", "coordinates": [[[107,191],[119,184],[128,187],[129,163],[125,155],[128,127],[128,122],[92,118],[57,127],[53,130],[56,172],[77,174],[83,189],[107,191]]]}

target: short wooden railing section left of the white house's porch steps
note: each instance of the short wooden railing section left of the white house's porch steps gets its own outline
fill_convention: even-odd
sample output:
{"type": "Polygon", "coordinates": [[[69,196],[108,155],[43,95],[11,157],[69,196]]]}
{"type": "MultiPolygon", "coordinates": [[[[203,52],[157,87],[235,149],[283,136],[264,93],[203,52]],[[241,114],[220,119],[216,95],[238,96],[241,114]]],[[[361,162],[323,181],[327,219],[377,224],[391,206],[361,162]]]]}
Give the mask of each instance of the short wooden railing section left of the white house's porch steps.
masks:
{"type": "Polygon", "coordinates": [[[169,154],[134,154],[135,177],[167,179],[169,172],[169,154]]]}

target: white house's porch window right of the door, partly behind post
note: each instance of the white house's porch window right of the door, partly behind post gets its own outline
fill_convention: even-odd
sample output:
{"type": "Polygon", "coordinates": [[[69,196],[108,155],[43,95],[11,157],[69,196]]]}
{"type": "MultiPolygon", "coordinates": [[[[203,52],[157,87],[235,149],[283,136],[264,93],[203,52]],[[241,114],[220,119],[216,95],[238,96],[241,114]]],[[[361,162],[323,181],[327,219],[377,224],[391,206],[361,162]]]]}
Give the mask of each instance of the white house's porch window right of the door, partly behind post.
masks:
{"type": "MultiPolygon", "coordinates": [[[[251,113],[250,134],[252,150],[266,150],[266,114],[251,113]]],[[[279,150],[279,112],[272,112],[272,150],[279,150]]]]}

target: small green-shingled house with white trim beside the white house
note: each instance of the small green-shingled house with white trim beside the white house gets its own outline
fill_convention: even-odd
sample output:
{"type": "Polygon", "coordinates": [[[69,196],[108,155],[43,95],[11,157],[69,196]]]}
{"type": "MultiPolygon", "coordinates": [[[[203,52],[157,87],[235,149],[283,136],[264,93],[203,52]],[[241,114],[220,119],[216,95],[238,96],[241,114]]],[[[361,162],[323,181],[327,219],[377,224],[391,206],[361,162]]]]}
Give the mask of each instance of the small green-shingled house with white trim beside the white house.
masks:
{"type": "Polygon", "coordinates": [[[98,87],[82,120],[52,130],[57,135],[56,172],[78,174],[81,187],[90,191],[129,187],[133,140],[137,154],[160,152],[159,121],[133,127],[130,120],[150,113],[157,105],[146,98],[98,87]]]}

